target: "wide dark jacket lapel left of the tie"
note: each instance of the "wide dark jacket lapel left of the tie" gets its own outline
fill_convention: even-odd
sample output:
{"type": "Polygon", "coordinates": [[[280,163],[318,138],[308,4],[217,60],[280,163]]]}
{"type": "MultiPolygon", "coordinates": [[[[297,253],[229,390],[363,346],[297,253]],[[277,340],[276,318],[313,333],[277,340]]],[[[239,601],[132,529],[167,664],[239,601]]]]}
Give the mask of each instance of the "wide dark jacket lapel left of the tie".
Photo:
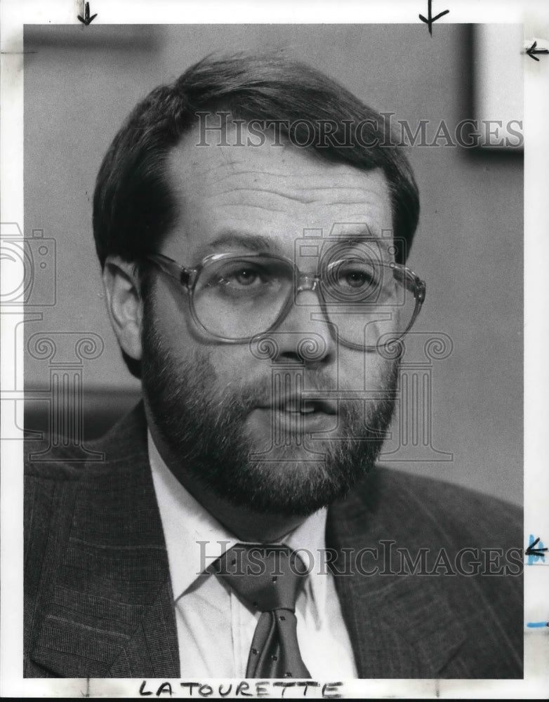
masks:
{"type": "Polygon", "coordinates": [[[178,677],[143,408],[93,449],[105,463],[87,465],[81,479],[59,488],[58,566],[31,657],[64,677],[178,677]]]}

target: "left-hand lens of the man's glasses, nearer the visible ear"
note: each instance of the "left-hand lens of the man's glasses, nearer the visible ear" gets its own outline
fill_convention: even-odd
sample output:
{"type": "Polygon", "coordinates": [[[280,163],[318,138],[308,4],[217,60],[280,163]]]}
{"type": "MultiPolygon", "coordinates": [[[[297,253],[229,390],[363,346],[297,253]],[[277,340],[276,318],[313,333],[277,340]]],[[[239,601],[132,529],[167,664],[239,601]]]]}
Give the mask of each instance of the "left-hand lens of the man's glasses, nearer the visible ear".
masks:
{"type": "Polygon", "coordinates": [[[251,338],[274,324],[292,284],[293,268],[277,258],[213,260],[201,270],[194,286],[194,314],[215,336],[251,338]]]}

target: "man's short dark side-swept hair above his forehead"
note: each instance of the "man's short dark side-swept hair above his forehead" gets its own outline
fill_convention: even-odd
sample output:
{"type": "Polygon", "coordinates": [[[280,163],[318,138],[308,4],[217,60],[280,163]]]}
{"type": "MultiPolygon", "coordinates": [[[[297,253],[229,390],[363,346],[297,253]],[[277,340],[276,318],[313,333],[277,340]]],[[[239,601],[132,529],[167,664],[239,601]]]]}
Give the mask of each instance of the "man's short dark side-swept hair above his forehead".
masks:
{"type": "MultiPolygon", "coordinates": [[[[131,112],[103,159],[93,196],[93,236],[101,265],[109,254],[138,261],[158,250],[176,218],[166,157],[197,124],[198,112],[295,124],[293,143],[327,161],[381,168],[390,188],[396,258],[406,259],[419,217],[411,166],[390,124],[319,71],[279,55],[206,58],[175,82],[155,88],[131,112]],[[336,124],[329,143],[321,125],[336,124]],[[305,138],[303,138],[305,136],[305,138]],[[370,146],[371,145],[371,146],[370,146]]],[[[284,128],[281,129],[284,133],[284,128]]],[[[139,364],[124,355],[139,377],[139,364]]]]}

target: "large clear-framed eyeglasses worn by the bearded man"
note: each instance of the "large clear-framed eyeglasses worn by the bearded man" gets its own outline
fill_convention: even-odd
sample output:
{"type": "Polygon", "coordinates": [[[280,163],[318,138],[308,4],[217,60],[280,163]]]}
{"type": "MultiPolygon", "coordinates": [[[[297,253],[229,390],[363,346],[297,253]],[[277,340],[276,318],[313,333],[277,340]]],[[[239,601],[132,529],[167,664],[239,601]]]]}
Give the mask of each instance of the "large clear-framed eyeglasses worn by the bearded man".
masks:
{"type": "MultiPolygon", "coordinates": [[[[343,345],[374,350],[404,336],[425,300],[425,282],[408,267],[372,256],[369,249],[337,247],[305,273],[284,256],[216,253],[186,268],[162,254],[145,256],[187,291],[194,322],[225,343],[245,343],[274,331],[300,293],[317,293],[331,333],[343,345]]],[[[310,299],[310,298],[307,298],[310,299]]]]}

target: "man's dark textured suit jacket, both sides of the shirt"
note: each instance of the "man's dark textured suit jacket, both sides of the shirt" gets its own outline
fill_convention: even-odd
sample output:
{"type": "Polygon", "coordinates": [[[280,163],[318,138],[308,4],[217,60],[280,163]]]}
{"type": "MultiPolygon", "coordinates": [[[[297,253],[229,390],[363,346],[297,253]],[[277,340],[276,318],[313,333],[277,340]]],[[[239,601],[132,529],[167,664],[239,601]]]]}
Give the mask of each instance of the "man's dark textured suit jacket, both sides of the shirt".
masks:
{"type": "MultiPolygon", "coordinates": [[[[177,678],[143,406],[90,448],[105,460],[60,451],[59,461],[27,465],[24,675],[177,678]]],[[[326,546],[338,553],[332,567],[359,677],[522,677],[520,555],[515,575],[449,574],[462,548],[521,545],[511,505],[395,470],[374,470],[331,505],[326,546]],[[389,547],[390,562],[379,564],[388,574],[366,575],[368,557],[360,571],[345,567],[343,557],[364,548],[387,556],[389,547]],[[431,566],[444,549],[450,569],[406,574],[398,548],[412,559],[428,550],[431,566]]],[[[492,571],[501,571],[497,553],[492,571]]]]}

